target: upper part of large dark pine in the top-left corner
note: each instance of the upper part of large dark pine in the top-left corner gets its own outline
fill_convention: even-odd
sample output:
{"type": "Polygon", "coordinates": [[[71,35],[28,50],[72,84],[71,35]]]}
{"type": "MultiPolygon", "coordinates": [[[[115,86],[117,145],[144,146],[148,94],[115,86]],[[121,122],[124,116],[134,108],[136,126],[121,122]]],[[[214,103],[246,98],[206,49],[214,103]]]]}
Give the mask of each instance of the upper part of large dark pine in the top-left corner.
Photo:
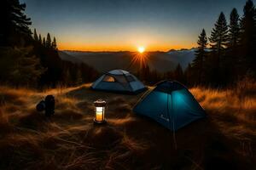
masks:
{"type": "Polygon", "coordinates": [[[12,46],[18,42],[11,39],[31,35],[29,26],[32,22],[24,14],[25,8],[26,4],[20,3],[19,0],[1,1],[0,46],[12,46]]]}

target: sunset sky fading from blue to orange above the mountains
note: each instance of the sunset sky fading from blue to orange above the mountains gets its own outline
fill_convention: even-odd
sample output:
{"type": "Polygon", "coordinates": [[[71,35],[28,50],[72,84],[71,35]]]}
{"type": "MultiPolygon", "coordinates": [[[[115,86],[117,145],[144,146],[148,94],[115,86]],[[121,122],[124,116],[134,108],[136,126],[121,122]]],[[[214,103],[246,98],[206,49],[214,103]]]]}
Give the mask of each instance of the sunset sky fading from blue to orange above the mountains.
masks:
{"type": "Polygon", "coordinates": [[[148,51],[196,46],[218,14],[242,13],[245,0],[21,0],[32,29],[55,36],[59,49],[148,51]]]}

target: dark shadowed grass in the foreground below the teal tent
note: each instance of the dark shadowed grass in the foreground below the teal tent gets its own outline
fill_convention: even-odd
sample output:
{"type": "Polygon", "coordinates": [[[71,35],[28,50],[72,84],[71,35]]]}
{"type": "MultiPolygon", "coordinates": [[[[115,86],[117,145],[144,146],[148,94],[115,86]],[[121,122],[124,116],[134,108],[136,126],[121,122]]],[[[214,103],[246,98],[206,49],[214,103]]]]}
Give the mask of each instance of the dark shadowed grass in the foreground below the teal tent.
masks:
{"type": "Polygon", "coordinates": [[[137,122],[125,123],[125,133],[129,139],[142,143],[146,141],[148,149],[143,151],[143,155],[137,155],[137,166],[143,169],[150,167],[250,169],[253,167],[249,161],[236,153],[233,141],[225,138],[207,118],[193,122],[173,133],[149,118],[141,116],[137,122]],[[145,165],[148,167],[144,167],[145,165]]]}

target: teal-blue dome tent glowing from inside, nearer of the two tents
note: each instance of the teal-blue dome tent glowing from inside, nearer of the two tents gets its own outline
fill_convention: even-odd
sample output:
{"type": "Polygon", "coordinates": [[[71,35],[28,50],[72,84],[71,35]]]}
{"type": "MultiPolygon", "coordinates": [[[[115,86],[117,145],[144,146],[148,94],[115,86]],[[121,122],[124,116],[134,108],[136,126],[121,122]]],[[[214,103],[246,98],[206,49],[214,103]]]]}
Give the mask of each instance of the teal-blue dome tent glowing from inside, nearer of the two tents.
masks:
{"type": "Polygon", "coordinates": [[[143,95],[133,111],[154,119],[172,131],[206,116],[189,90],[181,83],[172,81],[156,84],[152,91],[143,95]]]}

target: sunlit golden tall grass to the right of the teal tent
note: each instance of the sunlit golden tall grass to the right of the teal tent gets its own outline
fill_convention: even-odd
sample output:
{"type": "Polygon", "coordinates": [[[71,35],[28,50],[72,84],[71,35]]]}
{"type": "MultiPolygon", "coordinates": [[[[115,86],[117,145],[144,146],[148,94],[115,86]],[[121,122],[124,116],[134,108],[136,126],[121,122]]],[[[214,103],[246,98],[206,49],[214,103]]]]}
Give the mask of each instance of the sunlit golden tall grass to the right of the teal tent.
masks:
{"type": "Polygon", "coordinates": [[[191,88],[190,92],[211,116],[250,127],[256,123],[255,89],[255,82],[241,82],[232,89],[191,88]]]}

